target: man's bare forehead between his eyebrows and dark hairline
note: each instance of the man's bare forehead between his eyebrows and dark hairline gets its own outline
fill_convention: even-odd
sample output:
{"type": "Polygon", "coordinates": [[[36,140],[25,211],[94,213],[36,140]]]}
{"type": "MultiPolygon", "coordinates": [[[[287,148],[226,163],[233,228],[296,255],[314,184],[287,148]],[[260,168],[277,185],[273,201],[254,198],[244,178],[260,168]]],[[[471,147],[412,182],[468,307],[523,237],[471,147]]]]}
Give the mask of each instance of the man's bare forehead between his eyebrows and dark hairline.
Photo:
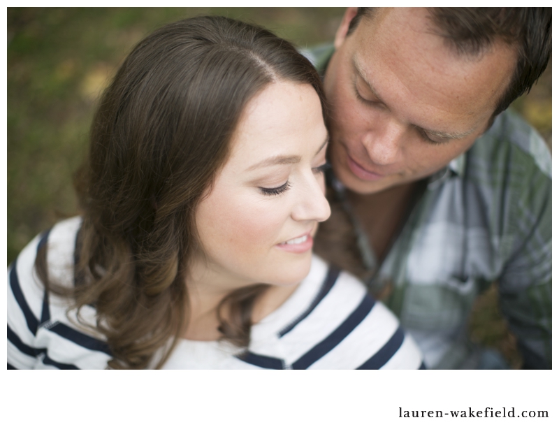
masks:
{"type": "Polygon", "coordinates": [[[350,36],[346,62],[389,108],[395,98],[405,95],[405,107],[396,106],[409,114],[410,123],[434,136],[467,136],[486,124],[495,110],[516,56],[499,46],[474,61],[457,57],[442,36],[430,31],[431,26],[425,9],[383,11],[359,23],[350,36]],[[437,110],[426,120],[419,109],[412,110],[419,106],[437,110]],[[449,122],[439,124],[437,119],[449,122]]]}

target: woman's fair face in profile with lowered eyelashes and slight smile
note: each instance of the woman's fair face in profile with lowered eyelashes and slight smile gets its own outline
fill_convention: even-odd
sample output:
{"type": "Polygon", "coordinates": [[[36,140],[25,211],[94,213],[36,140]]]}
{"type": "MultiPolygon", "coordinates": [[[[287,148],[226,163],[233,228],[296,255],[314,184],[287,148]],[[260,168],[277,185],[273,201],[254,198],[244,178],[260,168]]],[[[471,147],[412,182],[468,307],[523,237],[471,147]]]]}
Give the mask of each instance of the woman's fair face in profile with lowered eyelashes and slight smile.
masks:
{"type": "Polygon", "coordinates": [[[228,288],[303,280],[312,236],[330,215],[327,142],[312,86],[275,82],[254,96],[228,161],[196,211],[205,259],[194,260],[194,275],[228,288]]]}

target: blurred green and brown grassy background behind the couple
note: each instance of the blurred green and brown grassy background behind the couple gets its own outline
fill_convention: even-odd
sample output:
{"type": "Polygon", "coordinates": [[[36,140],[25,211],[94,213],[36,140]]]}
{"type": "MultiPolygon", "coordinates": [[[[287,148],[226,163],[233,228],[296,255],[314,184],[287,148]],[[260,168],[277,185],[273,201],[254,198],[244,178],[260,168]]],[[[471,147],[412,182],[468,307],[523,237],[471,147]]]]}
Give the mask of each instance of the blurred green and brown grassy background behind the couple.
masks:
{"type": "MultiPolygon", "coordinates": [[[[184,17],[225,15],[305,47],[333,41],[343,10],[8,8],[8,263],[37,233],[75,214],[71,178],[85,156],[96,101],[141,38],[184,17]]],[[[551,62],[513,106],[551,148],[551,62]]],[[[518,367],[514,338],[497,306],[494,289],[479,299],[472,337],[500,349],[518,367]]]]}

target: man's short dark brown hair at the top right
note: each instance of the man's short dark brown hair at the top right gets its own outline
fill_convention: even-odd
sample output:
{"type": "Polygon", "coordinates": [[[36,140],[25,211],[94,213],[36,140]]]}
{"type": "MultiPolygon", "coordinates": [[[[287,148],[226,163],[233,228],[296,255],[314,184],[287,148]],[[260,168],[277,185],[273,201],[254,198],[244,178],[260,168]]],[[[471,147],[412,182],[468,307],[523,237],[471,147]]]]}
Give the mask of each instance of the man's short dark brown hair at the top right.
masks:
{"type": "MultiPolygon", "coordinates": [[[[347,34],[375,8],[358,8],[347,34]]],[[[495,41],[516,46],[518,59],[509,87],[495,116],[530,88],[544,72],[551,55],[551,8],[428,8],[436,33],[458,55],[477,57],[495,41]]],[[[490,122],[491,124],[491,122],[490,122]]]]}

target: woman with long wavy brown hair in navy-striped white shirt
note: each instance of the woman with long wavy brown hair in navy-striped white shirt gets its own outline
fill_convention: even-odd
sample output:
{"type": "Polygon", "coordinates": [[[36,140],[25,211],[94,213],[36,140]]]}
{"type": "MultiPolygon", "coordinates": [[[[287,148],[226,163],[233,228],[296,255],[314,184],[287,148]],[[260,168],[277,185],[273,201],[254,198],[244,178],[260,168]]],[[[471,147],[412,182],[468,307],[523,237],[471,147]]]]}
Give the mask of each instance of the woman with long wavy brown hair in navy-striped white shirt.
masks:
{"type": "Polygon", "coordinates": [[[198,17],[138,43],[94,117],[82,217],[10,268],[8,367],[419,368],[395,317],[312,256],[324,109],[263,29],[198,17]]]}

